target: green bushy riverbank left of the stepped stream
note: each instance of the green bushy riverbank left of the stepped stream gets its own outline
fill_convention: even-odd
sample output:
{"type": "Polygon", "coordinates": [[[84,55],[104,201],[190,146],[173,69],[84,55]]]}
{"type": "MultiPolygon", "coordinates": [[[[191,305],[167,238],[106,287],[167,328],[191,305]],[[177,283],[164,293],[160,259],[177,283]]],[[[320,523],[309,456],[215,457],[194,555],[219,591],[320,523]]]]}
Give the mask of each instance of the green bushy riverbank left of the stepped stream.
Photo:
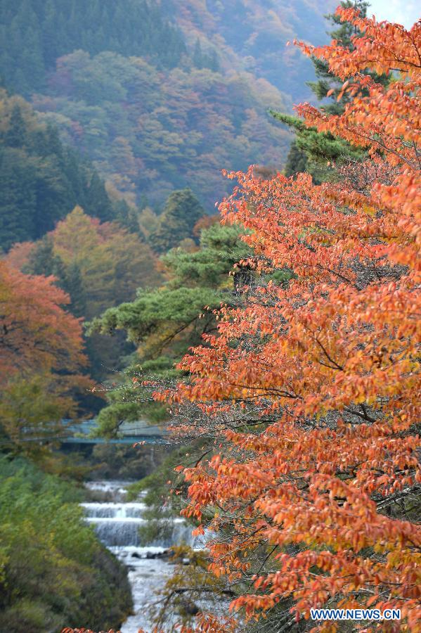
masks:
{"type": "Polygon", "coordinates": [[[0,631],[118,629],[132,612],[127,567],[86,525],[84,493],[0,456],[0,631]]]}

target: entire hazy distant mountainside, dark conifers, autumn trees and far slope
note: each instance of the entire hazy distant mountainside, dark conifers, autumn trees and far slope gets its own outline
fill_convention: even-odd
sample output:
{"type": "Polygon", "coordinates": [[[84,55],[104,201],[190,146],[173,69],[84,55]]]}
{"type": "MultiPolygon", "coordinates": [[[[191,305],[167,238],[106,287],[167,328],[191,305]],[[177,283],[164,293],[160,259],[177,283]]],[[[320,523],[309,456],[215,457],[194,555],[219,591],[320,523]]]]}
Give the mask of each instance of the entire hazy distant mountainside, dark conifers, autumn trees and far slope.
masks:
{"type": "Polygon", "coordinates": [[[285,44],[309,37],[309,15],[312,40],[325,39],[319,5],[6,0],[4,82],[116,196],[159,207],[188,186],[213,212],[221,169],[283,167],[290,134],[267,110],[290,110],[312,77],[285,44]]]}

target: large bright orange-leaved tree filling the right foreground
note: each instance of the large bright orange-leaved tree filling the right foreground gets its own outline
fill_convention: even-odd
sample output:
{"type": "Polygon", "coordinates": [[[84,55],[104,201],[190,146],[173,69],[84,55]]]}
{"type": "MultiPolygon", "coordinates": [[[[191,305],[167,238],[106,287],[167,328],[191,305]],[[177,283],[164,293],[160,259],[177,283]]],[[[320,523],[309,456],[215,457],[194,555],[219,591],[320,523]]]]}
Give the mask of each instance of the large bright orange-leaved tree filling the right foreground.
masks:
{"type": "Polygon", "coordinates": [[[354,101],[342,115],[299,113],[367,159],[318,186],[307,174],[228,174],[238,186],[221,215],[247,229],[255,281],[179,365],[190,381],[156,397],[195,403],[200,433],[224,448],[184,470],[185,513],[224,530],[211,569],[250,583],[233,608],[259,617],[293,599],[298,619],[318,606],[400,608],[399,630],[415,631],[421,29],[339,15],[364,32],[354,51],[302,47],[350,79],[354,101]],[[399,74],[384,88],[358,75],[366,68],[399,74]],[[285,267],[287,288],[271,278],[285,267]],[[260,426],[248,425],[250,411],[260,426]]]}

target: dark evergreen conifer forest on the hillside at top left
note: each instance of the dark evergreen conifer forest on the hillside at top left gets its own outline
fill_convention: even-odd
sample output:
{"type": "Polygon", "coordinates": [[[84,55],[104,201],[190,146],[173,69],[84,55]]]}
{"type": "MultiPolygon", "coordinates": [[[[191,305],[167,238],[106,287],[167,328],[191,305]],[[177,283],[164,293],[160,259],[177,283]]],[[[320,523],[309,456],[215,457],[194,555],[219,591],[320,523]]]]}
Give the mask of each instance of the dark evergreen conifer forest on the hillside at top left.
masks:
{"type": "Polygon", "coordinates": [[[4,80],[26,96],[44,89],[57,58],[76,49],[144,56],[168,68],[185,51],[181,34],[146,0],[6,0],[0,25],[4,80]]]}

